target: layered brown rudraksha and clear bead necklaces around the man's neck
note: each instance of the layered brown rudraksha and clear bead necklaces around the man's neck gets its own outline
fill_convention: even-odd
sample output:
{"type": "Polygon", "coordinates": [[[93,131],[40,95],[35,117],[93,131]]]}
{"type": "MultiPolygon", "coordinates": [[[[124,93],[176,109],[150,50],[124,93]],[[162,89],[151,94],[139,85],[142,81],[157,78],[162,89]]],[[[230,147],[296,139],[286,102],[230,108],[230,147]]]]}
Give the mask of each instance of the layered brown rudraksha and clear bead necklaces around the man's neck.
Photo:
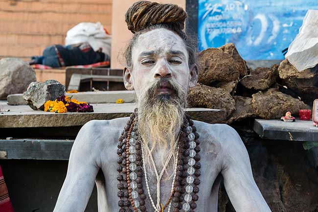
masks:
{"type": "MultiPolygon", "coordinates": [[[[145,206],[146,195],[142,188],[143,175],[145,175],[149,199],[152,206],[155,206],[150,196],[147,173],[143,171],[143,169],[146,169],[143,165],[142,140],[138,135],[137,121],[137,109],[135,109],[119,138],[117,146],[119,212],[147,211],[145,206]]],[[[173,212],[194,212],[197,208],[195,202],[199,199],[198,186],[200,184],[201,168],[199,162],[200,142],[198,139],[199,134],[196,132],[195,126],[193,126],[193,121],[188,115],[185,115],[178,143],[171,194],[167,203],[164,206],[161,204],[160,212],[164,212],[166,208],[170,212],[171,205],[174,208],[173,212]]],[[[154,209],[156,212],[158,211],[157,207],[154,207],[154,209]]]]}

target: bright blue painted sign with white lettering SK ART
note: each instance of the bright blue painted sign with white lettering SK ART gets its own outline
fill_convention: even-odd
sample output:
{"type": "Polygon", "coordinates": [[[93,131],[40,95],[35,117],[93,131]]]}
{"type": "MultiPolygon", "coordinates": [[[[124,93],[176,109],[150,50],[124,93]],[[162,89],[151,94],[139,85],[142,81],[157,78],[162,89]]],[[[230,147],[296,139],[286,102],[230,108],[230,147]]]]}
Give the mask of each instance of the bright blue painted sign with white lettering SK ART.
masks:
{"type": "Polygon", "coordinates": [[[199,50],[234,43],[245,60],[284,59],[318,0],[199,0],[199,50]]]}

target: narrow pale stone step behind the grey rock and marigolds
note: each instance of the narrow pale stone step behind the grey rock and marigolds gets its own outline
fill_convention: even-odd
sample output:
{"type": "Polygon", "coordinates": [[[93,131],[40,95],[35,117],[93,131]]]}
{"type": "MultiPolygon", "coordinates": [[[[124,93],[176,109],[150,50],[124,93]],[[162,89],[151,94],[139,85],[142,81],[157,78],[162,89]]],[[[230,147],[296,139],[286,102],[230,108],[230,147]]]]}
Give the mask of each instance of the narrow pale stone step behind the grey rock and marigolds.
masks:
{"type": "MultiPolygon", "coordinates": [[[[123,99],[124,102],[135,102],[134,91],[99,91],[99,92],[79,92],[76,94],[67,94],[73,96],[78,101],[89,103],[115,103],[117,99],[123,99]]],[[[9,105],[26,105],[23,94],[11,94],[7,96],[9,105]]]]}

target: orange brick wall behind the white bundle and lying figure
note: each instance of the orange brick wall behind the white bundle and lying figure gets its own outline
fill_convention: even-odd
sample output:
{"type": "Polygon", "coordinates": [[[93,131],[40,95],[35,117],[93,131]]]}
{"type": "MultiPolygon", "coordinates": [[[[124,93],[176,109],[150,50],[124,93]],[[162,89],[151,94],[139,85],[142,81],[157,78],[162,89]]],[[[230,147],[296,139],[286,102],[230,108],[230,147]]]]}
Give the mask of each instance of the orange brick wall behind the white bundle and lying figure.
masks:
{"type": "Polygon", "coordinates": [[[0,58],[27,60],[64,45],[68,29],[80,22],[100,22],[111,32],[112,0],[0,0],[0,58]]]}

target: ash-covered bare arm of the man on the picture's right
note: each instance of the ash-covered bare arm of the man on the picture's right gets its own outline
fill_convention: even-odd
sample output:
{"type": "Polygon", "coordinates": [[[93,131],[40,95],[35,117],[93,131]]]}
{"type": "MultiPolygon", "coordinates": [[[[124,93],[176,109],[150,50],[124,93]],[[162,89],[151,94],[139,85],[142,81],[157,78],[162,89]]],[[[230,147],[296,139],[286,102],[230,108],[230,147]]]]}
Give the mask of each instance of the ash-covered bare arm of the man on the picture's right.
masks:
{"type": "Polygon", "coordinates": [[[250,166],[250,158],[237,132],[227,126],[223,148],[224,185],[236,212],[271,212],[259,191],[250,166]]]}

